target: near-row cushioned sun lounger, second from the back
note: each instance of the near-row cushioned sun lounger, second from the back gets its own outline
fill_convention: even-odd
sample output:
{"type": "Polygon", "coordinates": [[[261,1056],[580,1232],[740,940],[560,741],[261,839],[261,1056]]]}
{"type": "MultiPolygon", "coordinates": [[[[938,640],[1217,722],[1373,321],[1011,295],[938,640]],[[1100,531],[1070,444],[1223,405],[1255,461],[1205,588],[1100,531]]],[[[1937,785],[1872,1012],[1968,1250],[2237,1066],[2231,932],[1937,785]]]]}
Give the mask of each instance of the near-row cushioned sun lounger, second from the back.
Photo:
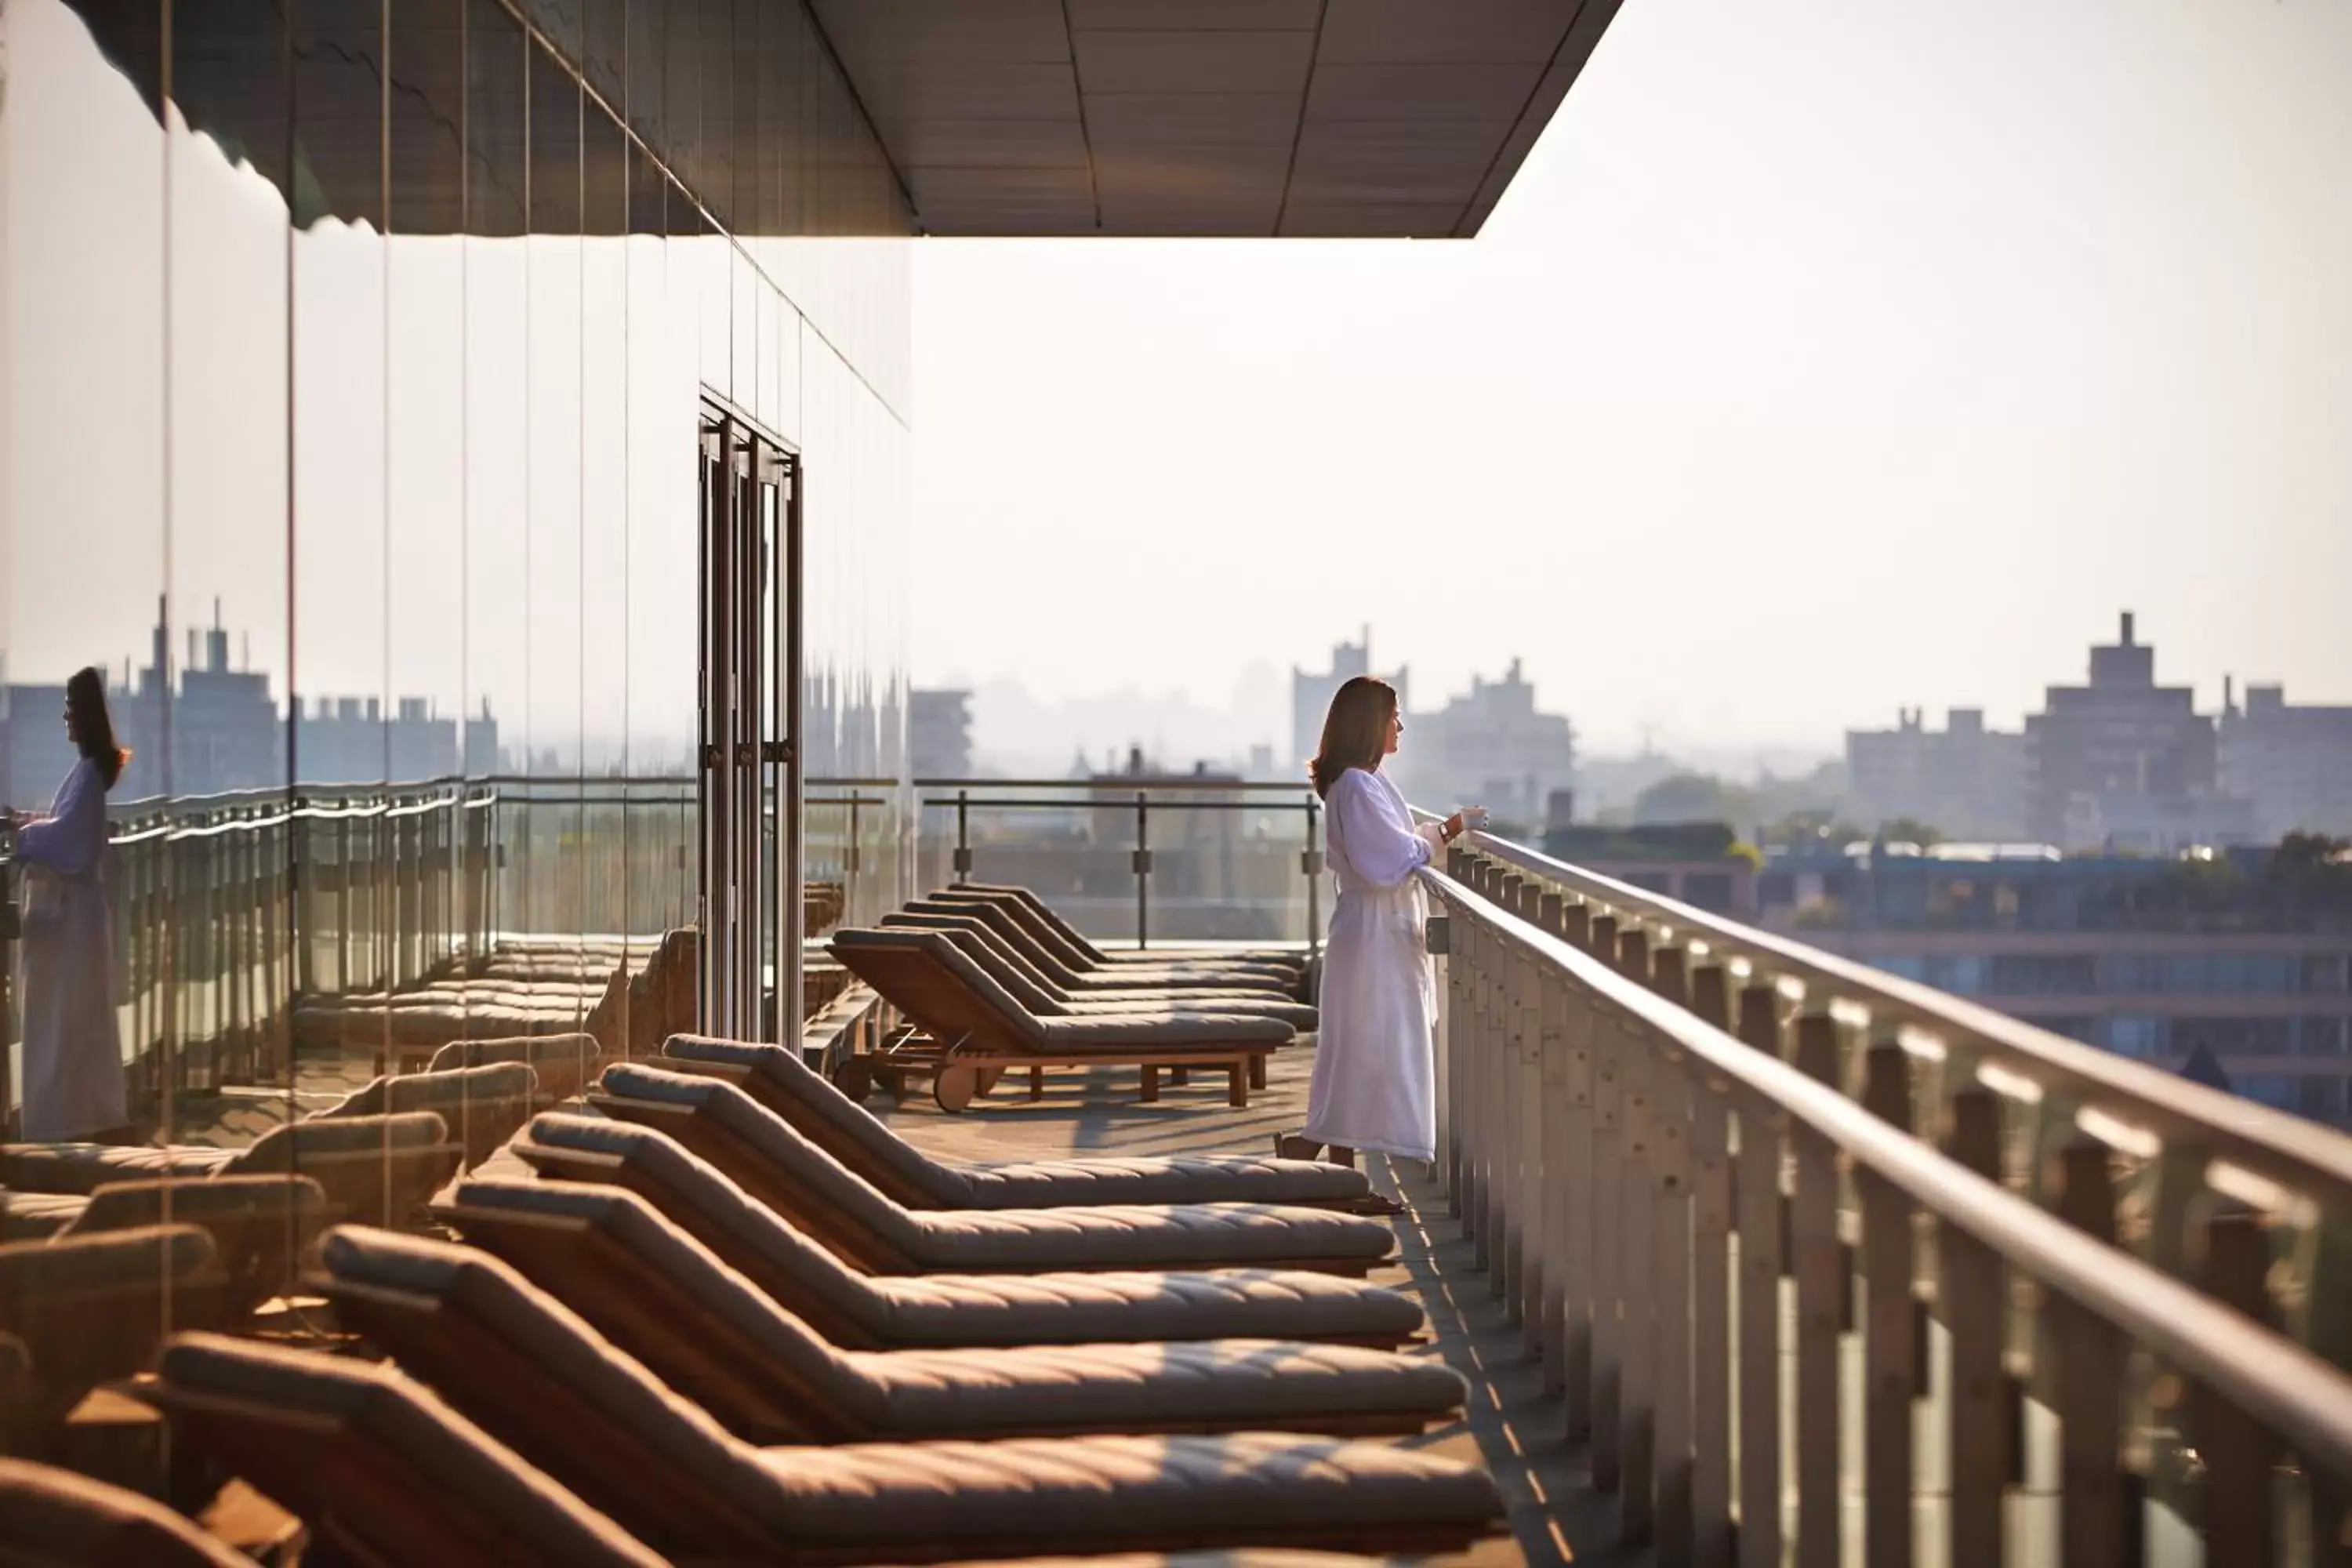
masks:
{"type": "MultiPolygon", "coordinates": [[[[1378,1220],[1265,1204],[906,1208],[734,1084],[621,1063],[590,1105],[656,1126],[868,1274],[1282,1267],[1364,1274],[1395,1251],[1378,1220]]],[[[550,1117],[534,1121],[534,1131],[550,1117]]],[[[560,1124],[557,1124],[560,1126],[560,1124]]],[[[534,1145],[546,1145],[541,1133],[534,1145]]],[[[517,1152],[532,1159],[517,1143],[517,1152]]],[[[543,1166],[541,1166],[543,1168],[543,1166]]]]}

